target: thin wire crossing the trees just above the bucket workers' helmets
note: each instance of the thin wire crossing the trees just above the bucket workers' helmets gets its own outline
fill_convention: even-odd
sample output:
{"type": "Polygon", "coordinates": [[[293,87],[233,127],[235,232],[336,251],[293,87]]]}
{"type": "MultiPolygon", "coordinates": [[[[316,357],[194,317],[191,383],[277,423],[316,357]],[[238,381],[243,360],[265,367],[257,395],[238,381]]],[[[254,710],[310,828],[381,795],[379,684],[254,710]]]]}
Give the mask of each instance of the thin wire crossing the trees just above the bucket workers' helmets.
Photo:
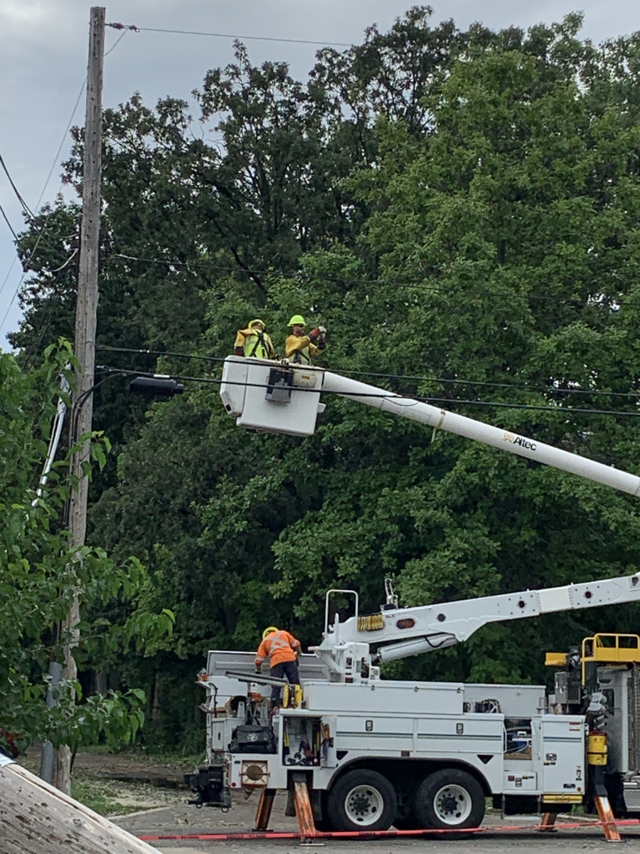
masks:
{"type": "MultiPolygon", "coordinates": [[[[434,284],[427,284],[423,279],[416,280],[415,282],[401,282],[397,279],[389,280],[389,279],[380,279],[380,278],[349,278],[346,276],[328,276],[323,275],[322,273],[312,273],[308,277],[305,273],[301,271],[296,272],[287,272],[283,270],[261,270],[256,267],[237,267],[237,266],[220,266],[218,264],[209,264],[205,261],[179,261],[174,259],[164,259],[164,258],[142,258],[137,255],[129,255],[121,252],[114,252],[108,256],[107,261],[121,258],[123,260],[131,260],[131,261],[141,261],[146,264],[162,264],[165,266],[174,266],[174,267],[184,267],[189,270],[189,268],[202,268],[205,270],[215,270],[216,272],[243,272],[246,273],[247,276],[257,275],[257,276],[281,276],[282,278],[310,278],[317,279],[321,282],[335,282],[337,284],[386,284],[390,285],[394,288],[414,288],[416,290],[428,290],[433,291],[433,293],[447,293],[451,294],[451,289],[447,287],[439,287],[434,284]]],[[[465,295],[473,294],[478,296],[492,296],[495,297],[496,293],[492,290],[474,290],[468,289],[463,291],[465,295]]],[[[567,302],[573,303],[576,306],[584,306],[585,302],[575,299],[571,296],[550,296],[550,295],[535,295],[528,294],[522,295],[522,298],[525,300],[533,300],[533,301],[551,301],[551,302],[567,302]]],[[[610,297],[610,299],[615,301],[615,304],[618,306],[640,306],[640,302],[633,300],[620,300],[614,297],[610,297]]]]}

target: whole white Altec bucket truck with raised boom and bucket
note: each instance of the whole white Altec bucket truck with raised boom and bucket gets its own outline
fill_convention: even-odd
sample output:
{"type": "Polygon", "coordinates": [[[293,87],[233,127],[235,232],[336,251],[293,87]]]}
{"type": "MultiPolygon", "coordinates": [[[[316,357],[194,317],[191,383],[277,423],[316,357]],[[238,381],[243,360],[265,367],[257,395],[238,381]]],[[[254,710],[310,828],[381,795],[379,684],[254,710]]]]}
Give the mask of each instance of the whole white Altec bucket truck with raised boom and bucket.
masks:
{"type": "MultiPolygon", "coordinates": [[[[637,495],[640,478],[535,439],[313,367],[230,356],[220,395],[237,424],[311,435],[331,391],[433,430],[485,442],[637,495]]],[[[253,674],[252,652],[212,650],[207,767],[186,775],[195,803],[228,809],[233,791],[261,795],[265,828],[276,789],[309,794],[317,828],[461,830],[492,798],[506,814],[595,804],[609,821],[640,814],[640,637],[596,635],[551,653],[555,693],[542,685],[382,680],[381,662],[467,640],[486,623],[640,600],[640,572],[619,578],[362,615],[355,591],[329,591],[323,640],[300,657],[301,692],[253,674]],[[333,597],[352,616],[332,616],[333,597]],[[605,811],[602,811],[605,810],[605,811]]],[[[277,683],[277,680],[276,680],[277,683]]],[[[300,796],[301,798],[301,796],[300,796]]],[[[295,799],[296,809],[304,798],[295,799]]]]}

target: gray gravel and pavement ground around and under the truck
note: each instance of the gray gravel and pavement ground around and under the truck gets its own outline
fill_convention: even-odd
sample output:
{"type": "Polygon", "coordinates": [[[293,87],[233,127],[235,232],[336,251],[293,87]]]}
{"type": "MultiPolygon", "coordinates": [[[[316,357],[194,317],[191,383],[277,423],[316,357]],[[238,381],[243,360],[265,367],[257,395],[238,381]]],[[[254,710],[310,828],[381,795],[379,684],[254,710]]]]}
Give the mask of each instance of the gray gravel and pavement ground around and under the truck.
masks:
{"type": "MultiPolygon", "coordinates": [[[[29,751],[29,757],[22,763],[38,773],[39,752],[29,751]]],[[[79,754],[76,759],[75,779],[83,784],[85,803],[98,808],[103,815],[109,816],[120,827],[137,836],[176,836],[185,834],[224,834],[247,833],[252,830],[258,795],[245,798],[242,793],[234,793],[233,809],[228,813],[203,807],[201,810],[186,803],[189,793],[175,786],[182,780],[183,771],[193,768],[193,760],[186,757],[169,757],[166,761],[154,757],[131,756],[131,754],[112,755],[105,753],[79,754]],[[129,782],[125,782],[129,781],[129,782]],[[153,783],[155,785],[153,785],[153,783]],[[169,788],[164,787],[168,784],[169,788]],[[159,787],[160,784],[160,787],[159,787]],[[96,798],[97,789],[99,798],[96,798]],[[113,791],[112,791],[113,790],[113,791]],[[103,806],[103,809],[101,809],[103,806]],[[127,816],[113,816],[114,811],[137,810],[127,816]],[[144,809],[152,807],[152,809],[144,809]],[[119,809],[120,808],[120,809],[119,809]]],[[[294,818],[284,815],[286,796],[278,794],[271,813],[270,829],[298,830],[294,818]]],[[[513,816],[502,819],[491,814],[486,816],[486,826],[498,828],[504,824],[524,825],[529,828],[538,822],[537,816],[513,816]]],[[[623,831],[628,842],[627,850],[637,849],[640,854],[640,828],[623,831]]],[[[508,833],[488,830],[465,839],[446,839],[444,837],[400,837],[395,839],[333,840],[325,839],[322,845],[300,845],[296,840],[161,840],[151,842],[159,851],[166,854],[287,854],[288,851],[300,852],[303,847],[335,851],[335,854],[394,854],[402,849],[407,854],[419,854],[420,851],[437,849],[443,854],[511,854],[526,849],[527,854],[581,854],[583,851],[610,851],[599,828],[579,828],[578,830],[560,830],[554,834],[540,834],[535,830],[510,831],[508,833]]]]}

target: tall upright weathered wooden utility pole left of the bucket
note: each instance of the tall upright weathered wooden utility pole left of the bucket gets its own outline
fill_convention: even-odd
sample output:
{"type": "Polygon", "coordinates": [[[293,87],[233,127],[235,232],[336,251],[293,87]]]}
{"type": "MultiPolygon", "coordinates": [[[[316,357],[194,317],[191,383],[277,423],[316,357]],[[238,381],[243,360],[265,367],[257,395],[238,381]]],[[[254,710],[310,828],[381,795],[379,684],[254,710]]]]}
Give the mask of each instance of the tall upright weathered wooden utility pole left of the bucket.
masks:
{"type": "MultiPolygon", "coordinates": [[[[77,390],[73,395],[71,437],[89,433],[93,417],[93,395],[96,366],[96,316],[98,307],[98,255],[100,249],[100,202],[102,176],[102,64],[104,60],[105,9],[91,9],[89,31],[89,68],[87,71],[87,108],[84,121],[84,162],[82,184],[82,224],[80,226],[80,257],[78,273],[78,303],[76,307],[75,354],[80,362],[77,371],[77,390]]],[[[90,443],[84,442],[79,453],[73,456],[71,472],[78,477],[78,488],[73,490],[69,505],[69,530],[71,546],[84,546],[87,526],[87,500],[89,480],[83,475],[82,464],[89,459],[90,443]]],[[[73,646],[79,640],[79,598],[74,596],[62,631],[67,635],[62,677],[78,676],[73,646]]],[[[66,794],[71,793],[71,751],[61,746],[55,762],[55,785],[66,794]]]]}

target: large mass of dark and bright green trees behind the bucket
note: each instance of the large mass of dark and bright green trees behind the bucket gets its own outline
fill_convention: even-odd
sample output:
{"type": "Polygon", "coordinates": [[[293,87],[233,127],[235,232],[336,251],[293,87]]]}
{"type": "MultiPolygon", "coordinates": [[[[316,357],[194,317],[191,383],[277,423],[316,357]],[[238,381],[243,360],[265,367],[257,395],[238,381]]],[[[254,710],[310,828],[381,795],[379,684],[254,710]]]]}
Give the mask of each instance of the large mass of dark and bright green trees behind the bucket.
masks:
{"type": "MultiPolygon", "coordinates": [[[[375,610],[387,575],[427,604],[636,568],[629,496],[353,401],[328,399],[305,440],[243,433],[211,382],[247,319],[282,347],[300,312],[329,328],[332,370],[640,471],[640,36],[596,47],[579,15],[527,32],[430,15],[320,51],[306,81],[238,44],[195,119],[137,95],[105,112],[98,342],[167,354],[100,359],[201,379],[146,409],[117,380],[98,389],[117,465],[93,485],[92,537],[137,554],[175,611],[156,670],[176,681],[178,659],[253,648],[266,623],[317,642],[329,587],[375,610]]],[[[42,216],[12,337],[31,360],[43,329],[71,334],[75,287],[73,265],[47,271],[78,209],[42,216]]],[[[544,649],[636,619],[493,625],[389,672],[539,681],[544,649]]],[[[185,708],[167,701],[174,731],[185,708]]]]}

